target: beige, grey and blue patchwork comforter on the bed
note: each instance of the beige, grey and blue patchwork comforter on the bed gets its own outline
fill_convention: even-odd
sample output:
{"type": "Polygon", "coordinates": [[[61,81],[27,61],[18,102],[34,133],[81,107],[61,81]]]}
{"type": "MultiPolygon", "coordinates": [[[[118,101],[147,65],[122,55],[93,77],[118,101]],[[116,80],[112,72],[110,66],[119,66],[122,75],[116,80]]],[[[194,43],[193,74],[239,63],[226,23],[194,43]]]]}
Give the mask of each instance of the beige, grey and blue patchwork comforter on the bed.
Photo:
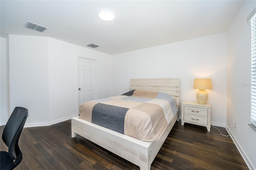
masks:
{"type": "Polygon", "coordinates": [[[132,90],[122,95],[97,99],[80,106],[80,119],[152,142],[177,113],[167,93],[132,90]]]}

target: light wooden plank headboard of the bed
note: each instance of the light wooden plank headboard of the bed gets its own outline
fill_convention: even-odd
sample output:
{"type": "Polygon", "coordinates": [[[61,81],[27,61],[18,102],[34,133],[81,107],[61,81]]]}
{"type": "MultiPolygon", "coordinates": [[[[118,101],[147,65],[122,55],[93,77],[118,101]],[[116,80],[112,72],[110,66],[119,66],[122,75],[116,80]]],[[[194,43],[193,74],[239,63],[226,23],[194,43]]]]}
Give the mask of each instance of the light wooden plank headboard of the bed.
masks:
{"type": "Polygon", "coordinates": [[[148,90],[168,93],[180,105],[180,79],[131,79],[130,90],[148,90]]]}

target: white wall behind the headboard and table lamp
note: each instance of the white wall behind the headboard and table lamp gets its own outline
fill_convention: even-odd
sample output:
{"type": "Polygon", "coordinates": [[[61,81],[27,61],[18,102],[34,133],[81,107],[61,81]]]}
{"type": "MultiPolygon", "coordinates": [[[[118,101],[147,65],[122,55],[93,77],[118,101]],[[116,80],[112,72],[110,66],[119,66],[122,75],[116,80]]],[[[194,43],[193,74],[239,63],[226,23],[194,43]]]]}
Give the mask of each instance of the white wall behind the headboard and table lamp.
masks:
{"type": "Polygon", "coordinates": [[[129,90],[130,79],[180,78],[180,102],[196,101],[194,78],[212,78],[206,90],[212,124],[226,125],[226,34],[130,51],[112,56],[112,95],[129,90]]]}

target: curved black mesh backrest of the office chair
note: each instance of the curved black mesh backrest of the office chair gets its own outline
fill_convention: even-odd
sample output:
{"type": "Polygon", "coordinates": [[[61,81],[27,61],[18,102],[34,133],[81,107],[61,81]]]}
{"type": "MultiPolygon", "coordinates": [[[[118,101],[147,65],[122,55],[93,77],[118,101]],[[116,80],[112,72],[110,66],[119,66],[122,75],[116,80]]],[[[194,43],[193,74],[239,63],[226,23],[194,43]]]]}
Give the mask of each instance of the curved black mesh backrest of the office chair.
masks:
{"type": "Polygon", "coordinates": [[[18,154],[21,154],[18,141],[27,117],[28,109],[15,107],[3,130],[2,139],[8,146],[8,152],[13,160],[17,159],[18,154]]]}

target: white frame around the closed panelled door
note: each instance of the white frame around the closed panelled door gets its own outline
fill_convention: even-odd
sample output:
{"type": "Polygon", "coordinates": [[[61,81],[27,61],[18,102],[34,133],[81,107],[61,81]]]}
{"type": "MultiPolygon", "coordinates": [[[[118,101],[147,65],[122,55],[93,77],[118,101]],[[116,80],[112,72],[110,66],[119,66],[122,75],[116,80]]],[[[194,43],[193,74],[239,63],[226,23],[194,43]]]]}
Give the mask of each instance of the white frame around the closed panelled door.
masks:
{"type": "Polygon", "coordinates": [[[99,99],[99,80],[98,80],[98,61],[97,59],[91,58],[91,57],[87,57],[87,56],[82,56],[82,55],[77,55],[77,59],[76,59],[76,90],[77,90],[77,115],[79,116],[79,58],[83,58],[83,59],[89,59],[89,60],[93,60],[95,61],[95,86],[96,86],[96,93],[95,93],[95,98],[99,99]]]}

